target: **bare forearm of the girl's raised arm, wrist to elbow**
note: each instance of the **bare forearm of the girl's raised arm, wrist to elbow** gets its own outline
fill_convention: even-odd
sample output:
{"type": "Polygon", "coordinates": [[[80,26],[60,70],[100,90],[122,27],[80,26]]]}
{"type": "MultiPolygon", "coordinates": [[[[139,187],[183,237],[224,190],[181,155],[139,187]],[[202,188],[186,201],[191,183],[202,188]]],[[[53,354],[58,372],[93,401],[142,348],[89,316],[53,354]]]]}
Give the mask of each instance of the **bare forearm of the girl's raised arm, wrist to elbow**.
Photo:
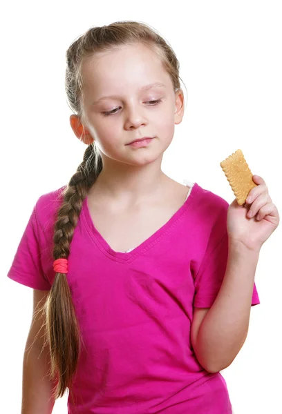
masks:
{"type": "Polygon", "coordinates": [[[193,344],[198,361],[211,373],[229,366],[245,342],[258,261],[258,252],[229,242],[223,283],[193,344]]]}

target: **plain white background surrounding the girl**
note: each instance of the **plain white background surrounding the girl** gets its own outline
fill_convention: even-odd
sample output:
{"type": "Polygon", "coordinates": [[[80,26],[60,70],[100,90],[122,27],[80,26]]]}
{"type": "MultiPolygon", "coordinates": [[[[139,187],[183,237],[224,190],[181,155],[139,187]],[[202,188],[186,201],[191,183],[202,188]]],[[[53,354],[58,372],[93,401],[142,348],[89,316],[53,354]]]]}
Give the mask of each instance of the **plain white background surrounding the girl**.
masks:
{"type": "MultiPolygon", "coordinates": [[[[14,1],[1,17],[1,411],[20,413],[22,358],[32,289],[6,277],[38,197],[68,182],[84,144],[69,124],[65,53],[92,26],[138,20],[156,28],[180,61],[185,117],[162,170],[226,199],[220,168],[241,148],[282,216],[281,1],[14,1]],[[4,409],[3,409],[4,408],[4,409]]],[[[246,342],[221,371],[235,414],[282,413],[281,225],[261,249],[246,342]],[[280,248],[279,248],[280,246],[280,248]]],[[[53,413],[67,413],[67,395],[53,413]]]]}

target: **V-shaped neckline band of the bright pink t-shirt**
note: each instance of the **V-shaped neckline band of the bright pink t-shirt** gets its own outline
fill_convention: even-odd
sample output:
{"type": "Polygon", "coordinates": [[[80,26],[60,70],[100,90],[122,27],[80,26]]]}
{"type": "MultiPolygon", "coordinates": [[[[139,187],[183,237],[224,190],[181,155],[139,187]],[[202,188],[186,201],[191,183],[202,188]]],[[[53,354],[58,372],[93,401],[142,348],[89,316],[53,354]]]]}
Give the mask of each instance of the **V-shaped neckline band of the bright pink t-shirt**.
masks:
{"type": "Polygon", "coordinates": [[[184,204],[182,204],[182,206],[178,208],[176,213],[173,214],[173,216],[167,221],[167,223],[165,223],[158,230],[156,230],[156,232],[153,233],[153,235],[149,236],[139,246],[133,248],[133,250],[127,253],[117,252],[113,250],[111,246],[106,242],[104,237],[102,237],[100,232],[97,230],[90,215],[87,196],[83,201],[82,211],[80,215],[84,221],[84,224],[86,225],[86,229],[88,230],[91,239],[93,239],[93,242],[95,242],[96,246],[101,250],[101,252],[107,257],[116,260],[117,262],[128,263],[135,259],[135,257],[137,257],[138,255],[142,255],[142,253],[144,253],[146,250],[157,244],[164,235],[164,233],[169,233],[169,231],[173,228],[173,224],[176,224],[176,221],[178,221],[182,217],[182,215],[187,213],[187,210],[191,208],[194,199],[196,198],[196,195],[198,193],[198,189],[199,186],[195,182],[184,204]]]}

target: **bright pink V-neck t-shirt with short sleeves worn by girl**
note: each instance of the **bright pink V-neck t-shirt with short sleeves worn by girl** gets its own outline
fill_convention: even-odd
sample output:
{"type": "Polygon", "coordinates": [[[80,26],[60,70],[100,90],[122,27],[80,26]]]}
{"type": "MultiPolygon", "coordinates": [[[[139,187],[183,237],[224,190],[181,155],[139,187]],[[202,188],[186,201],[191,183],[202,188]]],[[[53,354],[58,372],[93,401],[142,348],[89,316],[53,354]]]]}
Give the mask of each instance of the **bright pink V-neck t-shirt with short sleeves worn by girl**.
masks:
{"type": "MultiPolygon", "coordinates": [[[[55,277],[62,189],[37,200],[8,273],[30,288],[49,290],[55,277]]],[[[225,275],[228,207],[194,183],[164,226],[123,253],[97,231],[84,199],[68,257],[85,344],[69,414],[232,413],[223,376],[205,371],[190,340],[194,306],[212,306],[225,275]]],[[[254,284],[252,306],[259,303],[254,284]]]]}

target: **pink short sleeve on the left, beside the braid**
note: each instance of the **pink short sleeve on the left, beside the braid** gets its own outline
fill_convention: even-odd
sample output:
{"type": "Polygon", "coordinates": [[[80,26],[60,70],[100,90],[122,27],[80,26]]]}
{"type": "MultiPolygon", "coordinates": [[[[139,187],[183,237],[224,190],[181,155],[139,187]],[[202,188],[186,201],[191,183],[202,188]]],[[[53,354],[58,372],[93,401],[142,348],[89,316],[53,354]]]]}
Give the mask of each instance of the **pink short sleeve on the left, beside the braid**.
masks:
{"type": "Polygon", "coordinates": [[[41,265],[36,206],[32,210],[7,276],[30,288],[39,290],[51,288],[41,265]]]}

